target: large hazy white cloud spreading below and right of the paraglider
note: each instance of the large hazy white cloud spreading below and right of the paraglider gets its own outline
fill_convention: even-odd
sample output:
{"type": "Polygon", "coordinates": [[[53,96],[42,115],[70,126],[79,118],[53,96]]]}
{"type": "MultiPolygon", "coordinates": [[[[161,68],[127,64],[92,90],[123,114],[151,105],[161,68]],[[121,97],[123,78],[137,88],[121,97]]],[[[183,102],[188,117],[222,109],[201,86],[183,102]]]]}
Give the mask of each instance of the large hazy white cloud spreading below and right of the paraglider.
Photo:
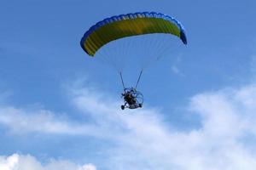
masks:
{"type": "Polygon", "coordinates": [[[158,111],[120,111],[116,102],[91,89],[73,89],[72,99],[118,144],[108,158],[109,169],[238,170],[256,165],[255,153],[244,142],[245,133],[256,132],[255,91],[250,85],[196,95],[186,114],[199,114],[201,127],[189,132],[168,128],[158,111]]]}

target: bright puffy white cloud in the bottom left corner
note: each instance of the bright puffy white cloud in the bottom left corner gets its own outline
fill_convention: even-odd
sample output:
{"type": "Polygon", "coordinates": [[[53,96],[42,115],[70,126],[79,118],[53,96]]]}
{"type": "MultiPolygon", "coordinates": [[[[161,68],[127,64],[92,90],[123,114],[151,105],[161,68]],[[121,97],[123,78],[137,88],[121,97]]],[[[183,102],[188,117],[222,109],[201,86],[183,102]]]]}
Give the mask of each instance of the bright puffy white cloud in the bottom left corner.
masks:
{"type": "Polygon", "coordinates": [[[96,170],[93,164],[77,165],[72,161],[51,160],[42,165],[35,157],[30,155],[0,156],[1,170],[96,170]]]}

